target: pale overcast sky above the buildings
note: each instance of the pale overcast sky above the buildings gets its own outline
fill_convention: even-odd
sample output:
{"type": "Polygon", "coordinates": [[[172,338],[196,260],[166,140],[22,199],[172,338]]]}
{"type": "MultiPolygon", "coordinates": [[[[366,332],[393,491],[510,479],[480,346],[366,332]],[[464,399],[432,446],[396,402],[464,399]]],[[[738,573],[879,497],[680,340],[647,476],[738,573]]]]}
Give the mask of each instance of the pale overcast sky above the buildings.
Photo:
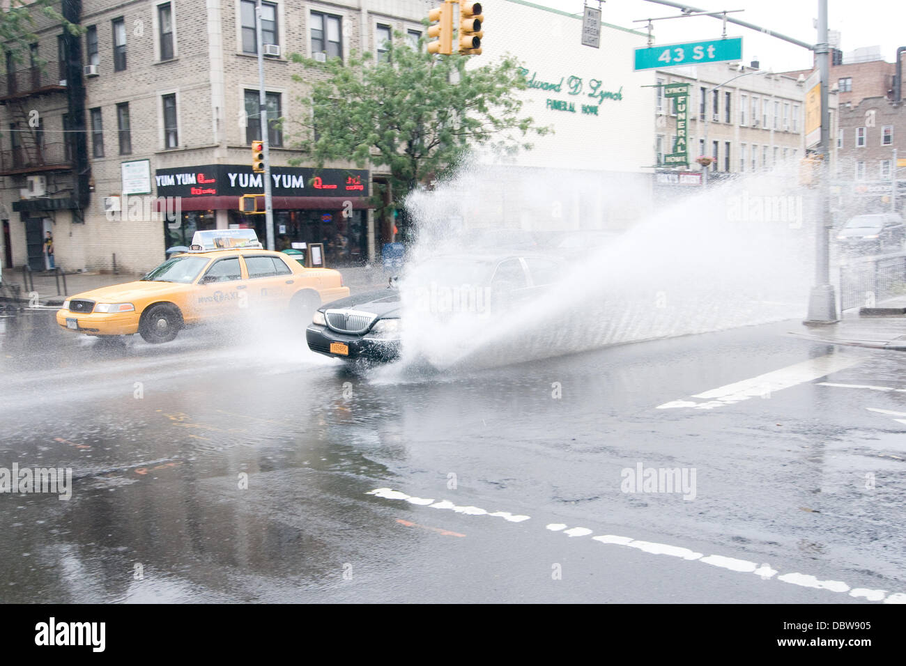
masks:
{"type": "MultiPolygon", "coordinates": [[[[583,0],[531,1],[570,14],[581,14],[584,5],[583,0]]],[[[588,4],[598,6],[596,0],[588,0],[588,4]]],[[[803,42],[817,41],[814,19],[818,16],[818,0],[695,0],[692,6],[708,11],[744,9],[744,12],[732,15],[803,42]]],[[[843,53],[862,46],[880,45],[882,57],[892,63],[897,47],[906,46],[906,2],[903,0],[830,0],[828,7],[828,26],[831,30],[840,31],[840,48],[843,53]]],[[[680,10],[674,7],[645,0],[608,0],[602,4],[604,23],[636,28],[642,32],[645,31],[646,24],[633,23],[635,19],[675,16],[679,13],[680,10]]],[[[490,21],[493,20],[488,15],[488,35],[490,21]]],[[[654,22],[656,45],[718,38],[720,33],[720,21],[709,16],[654,22]]],[[[775,72],[812,66],[811,52],[794,44],[758,34],[741,25],[728,24],[727,34],[731,37],[742,36],[743,60],[746,63],[757,58],[762,68],[773,69],[775,72]]],[[[906,60],[906,55],[903,59],[906,60]]]]}

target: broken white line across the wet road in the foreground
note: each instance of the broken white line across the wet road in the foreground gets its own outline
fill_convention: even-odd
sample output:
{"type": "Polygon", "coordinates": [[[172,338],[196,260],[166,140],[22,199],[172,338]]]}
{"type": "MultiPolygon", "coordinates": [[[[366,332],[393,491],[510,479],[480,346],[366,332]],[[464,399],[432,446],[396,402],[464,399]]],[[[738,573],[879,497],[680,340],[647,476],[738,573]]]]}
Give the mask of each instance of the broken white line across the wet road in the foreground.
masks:
{"type": "MultiPolygon", "coordinates": [[[[417,506],[424,506],[425,501],[421,500],[419,497],[411,497],[409,495],[406,495],[406,493],[401,493],[399,490],[393,490],[387,487],[369,490],[366,495],[374,495],[376,497],[383,497],[384,499],[402,499],[406,501],[410,501],[411,499],[418,499],[419,502],[410,502],[412,504],[416,504],[417,506]]],[[[429,508],[448,508],[454,511],[458,511],[458,513],[464,513],[472,516],[500,516],[511,522],[520,522],[522,520],[529,519],[529,516],[513,516],[506,511],[496,511],[493,514],[489,514],[484,509],[479,509],[477,507],[457,507],[446,499],[429,505],[429,508]]],[[[548,529],[552,532],[563,532],[563,534],[570,537],[588,536],[592,534],[592,530],[590,530],[588,527],[571,527],[569,529],[566,529],[566,525],[564,525],[564,523],[548,523],[547,525],[545,525],[545,529],[548,529]]],[[[755,574],[762,580],[769,580],[776,576],[776,574],[778,573],[776,569],[772,569],[770,565],[758,566],[754,562],[741,560],[736,557],[727,557],[725,555],[703,555],[679,545],[658,544],[651,541],[639,541],[633,539],[631,536],[602,535],[593,536],[592,540],[605,545],[621,545],[629,548],[636,548],[644,553],[651,553],[652,555],[670,555],[690,562],[703,562],[706,565],[718,566],[740,574],[755,574]]],[[[818,590],[829,590],[830,592],[836,593],[848,592],[852,597],[864,597],[867,601],[872,602],[878,602],[883,599],[883,603],[906,603],[906,594],[903,593],[893,593],[885,597],[884,595],[887,594],[886,590],[872,590],[864,587],[851,588],[850,585],[843,583],[843,581],[822,581],[814,575],[799,573],[783,574],[777,576],[776,579],[783,581],[784,583],[800,585],[802,587],[812,587],[818,590]]]]}

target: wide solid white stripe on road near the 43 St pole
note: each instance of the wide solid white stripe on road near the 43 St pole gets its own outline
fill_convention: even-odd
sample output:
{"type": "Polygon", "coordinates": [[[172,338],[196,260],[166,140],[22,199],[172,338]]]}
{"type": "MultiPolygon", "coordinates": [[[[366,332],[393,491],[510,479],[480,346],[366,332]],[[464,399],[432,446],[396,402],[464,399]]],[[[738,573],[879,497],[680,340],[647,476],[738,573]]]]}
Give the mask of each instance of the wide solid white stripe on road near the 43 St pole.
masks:
{"type": "Polygon", "coordinates": [[[809,359],[775,370],[759,374],[751,379],[734,381],[732,384],[696,393],[693,398],[700,398],[704,402],[695,401],[670,401],[658,405],[659,410],[670,410],[682,407],[689,407],[694,410],[711,410],[715,407],[733,404],[766,396],[776,391],[783,391],[792,386],[803,384],[806,381],[814,381],[821,377],[826,377],[832,372],[839,372],[850,368],[862,359],[858,356],[847,356],[840,353],[831,353],[826,356],[819,356],[816,359],[809,359]]]}

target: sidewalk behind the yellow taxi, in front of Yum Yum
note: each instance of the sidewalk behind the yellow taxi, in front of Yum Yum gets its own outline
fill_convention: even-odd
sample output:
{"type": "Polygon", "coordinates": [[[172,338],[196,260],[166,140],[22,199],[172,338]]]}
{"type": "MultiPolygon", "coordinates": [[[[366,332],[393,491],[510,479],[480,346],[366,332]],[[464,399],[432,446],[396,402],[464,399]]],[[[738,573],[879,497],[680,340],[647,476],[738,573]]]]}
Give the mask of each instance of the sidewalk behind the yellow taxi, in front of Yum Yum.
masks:
{"type": "MultiPolygon", "coordinates": [[[[381,265],[364,267],[354,266],[349,268],[339,268],[342,274],[343,284],[348,286],[351,294],[360,294],[361,292],[371,289],[380,289],[387,285],[390,273],[385,274],[381,265]]],[[[31,274],[34,282],[34,291],[38,294],[38,301],[42,305],[51,305],[59,307],[63,304],[66,296],[72,294],[81,294],[82,292],[91,291],[102,286],[120,285],[124,282],[138,280],[141,274],[120,273],[112,275],[110,273],[72,273],[65,276],[66,288],[63,289],[63,277],[57,281],[57,277],[51,272],[41,272],[31,274]],[[59,287],[58,287],[59,284],[59,287]]],[[[23,285],[22,269],[14,270],[7,268],[3,272],[3,294],[12,296],[14,285],[19,289],[19,300],[28,302],[31,300],[29,291],[23,285]],[[10,287],[13,287],[11,289],[10,287]]],[[[31,286],[31,285],[29,285],[31,286]]]]}

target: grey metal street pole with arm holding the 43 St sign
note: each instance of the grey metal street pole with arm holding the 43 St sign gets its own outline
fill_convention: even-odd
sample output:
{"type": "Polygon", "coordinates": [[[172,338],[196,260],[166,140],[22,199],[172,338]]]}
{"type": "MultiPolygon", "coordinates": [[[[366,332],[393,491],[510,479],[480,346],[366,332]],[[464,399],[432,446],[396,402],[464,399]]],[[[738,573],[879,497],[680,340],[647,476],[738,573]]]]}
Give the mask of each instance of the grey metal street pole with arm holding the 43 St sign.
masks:
{"type": "Polygon", "coordinates": [[[794,43],[809,51],[814,51],[818,61],[818,72],[821,77],[821,142],[818,144],[818,153],[824,158],[822,178],[818,184],[821,198],[821,218],[815,223],[815,258],[814,258],[814,286],[808,298],[808,314],[805,323],[834,323],[837,321],[837,300],[834,294],[834,285],[831,285],[830,248],[828,242],[828,228],[831,227],[831,198],[830,198],[830,137],[831,137],[831,111],[828,108],[827,89],[830,82],[830,63],[827,54],[830,52],[827,33],[827,0],[818,0],[818,43],[810,44],[788,37],[786,34],[776,33],[760,25],[750,24],[726,14],[708,14],[707,10],[696,9],[684,3],[672,0],[646,0],[658,5],[677,7],[684,13],[701,13],[714,15],[726,23],[742,25],[759,33],[776,37],[785,42],[794,43]]]}

